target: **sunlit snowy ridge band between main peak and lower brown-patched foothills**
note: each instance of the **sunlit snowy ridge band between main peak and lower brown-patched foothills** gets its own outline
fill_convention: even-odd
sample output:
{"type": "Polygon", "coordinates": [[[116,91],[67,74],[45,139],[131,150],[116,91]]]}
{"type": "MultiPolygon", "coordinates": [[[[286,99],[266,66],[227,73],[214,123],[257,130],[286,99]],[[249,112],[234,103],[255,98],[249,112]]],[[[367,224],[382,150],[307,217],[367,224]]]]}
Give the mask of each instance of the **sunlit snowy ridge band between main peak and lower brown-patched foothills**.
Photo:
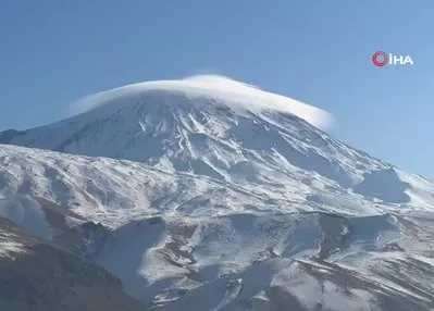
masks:
{"type": "MultiPolygon", "coordinates": [[[[359,184],[359,192],[367,192],[365,196],[318,175],[307,182],[305,174],[295,171],[292,177],[266,185],[239,184],[125,160],[0,145],[0,199],[4,198],[0,202],[3,206],[8,198],[32,195],[110,227],[153,215],[199,217],[297,211],[372,215],[387,211],[431,211],[434,204],[432,182],[398,170],[377,173],[383,179],[393,181],[389,184],[367,175],[359,184]],[[388,192],[382,192],[385,188],[389,188],[388,192]],[[371,194],[385,197],[385,201],[371,198],[371,194]],[[389,201],[406,196],[408,202],[390,203],[387,196],[389,201]]],[[[15,214],[22,213],[22,204],[18,202],[15,214]]],[[[4,211],[3,216],[10,214],[5,208],[0,210],[4,211]]],[[[10,219],[14,220],[14,215],[10,214],[10,219]]]]}

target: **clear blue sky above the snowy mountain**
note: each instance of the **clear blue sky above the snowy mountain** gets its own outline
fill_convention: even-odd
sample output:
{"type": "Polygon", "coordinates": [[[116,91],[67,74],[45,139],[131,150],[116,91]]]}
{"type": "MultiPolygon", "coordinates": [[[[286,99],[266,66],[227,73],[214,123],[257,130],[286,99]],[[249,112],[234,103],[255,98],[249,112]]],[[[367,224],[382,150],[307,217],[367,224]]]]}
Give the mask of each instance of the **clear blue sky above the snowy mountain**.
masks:
{"type": "Polygon", "coordinates": [[[340,140],[434,177],[432,0],[2,0],[0,130],[88,94],[223,74],[330,111],[340,140]],[[413,66],[376,69],[376,50],[413,66]]]}

